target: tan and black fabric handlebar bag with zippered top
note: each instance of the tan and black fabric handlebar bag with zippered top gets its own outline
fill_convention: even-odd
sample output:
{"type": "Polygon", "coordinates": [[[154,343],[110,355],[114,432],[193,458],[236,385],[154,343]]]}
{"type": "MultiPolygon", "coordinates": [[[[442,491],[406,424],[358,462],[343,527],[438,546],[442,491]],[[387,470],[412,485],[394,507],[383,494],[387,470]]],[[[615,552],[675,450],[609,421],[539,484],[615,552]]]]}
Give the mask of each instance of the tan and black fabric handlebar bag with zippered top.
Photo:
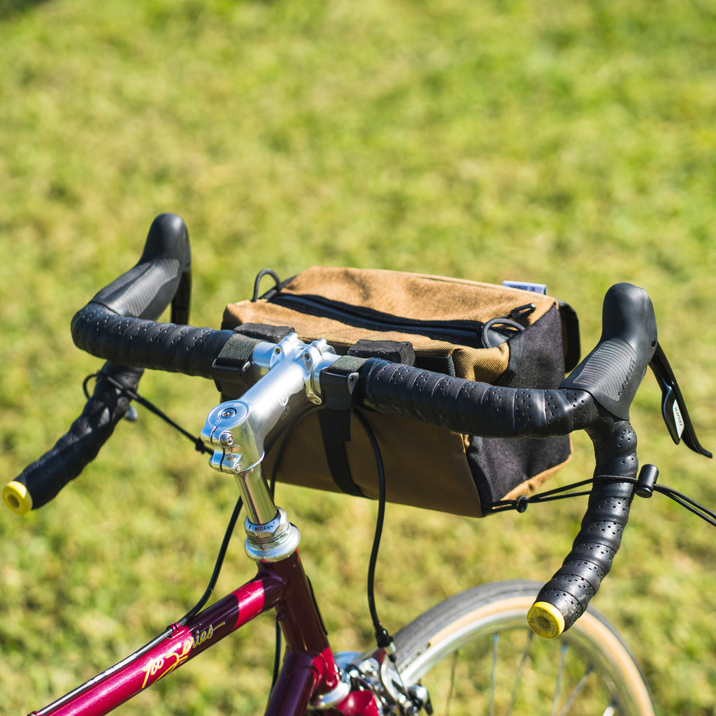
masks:
{"type": "MultiPolygon", "coordinates": [[[[264,272],[262,272],[263,274],[264,272]]],[[[276,278],[273,272],[270,272],[276,278]]],[[[256,286],[258,287],[258,280],[256,286]]],[[[222,328],[278,341],[292,330],[339,354],[392,362],[508,387],[556,388],[579,362],[576,314],[533,291],[442,276],[314,267],[251,300],[226,306],[222,328]]],[[[234,384],[224,400],[240,397],[234,384]]],[[[248,388],[248,384],[245,386],[248,388]]],[[[245,389],[244,388],[244,389],[245,389]]],[[[460,435],[362,408],[349,430],[329,411],[280,426],[264,470],[279,481],[378,496],[368,431],[377,439],[387,500],[485,516],[503,498],[531,493],[571,457],[569,437],[460,435]]],[[[267,440],[267,445],[271,444],[267,440]]]]}

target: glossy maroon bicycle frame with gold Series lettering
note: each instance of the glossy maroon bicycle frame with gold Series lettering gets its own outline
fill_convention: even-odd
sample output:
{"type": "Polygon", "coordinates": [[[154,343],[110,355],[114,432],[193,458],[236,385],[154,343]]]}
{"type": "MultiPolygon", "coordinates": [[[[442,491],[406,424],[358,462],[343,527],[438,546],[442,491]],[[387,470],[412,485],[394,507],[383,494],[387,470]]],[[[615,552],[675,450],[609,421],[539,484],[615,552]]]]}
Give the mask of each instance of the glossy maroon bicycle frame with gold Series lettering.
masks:
{"type": "MultiPolygon", "coordinates": [[[[30,716],[101,716],[144,691],[259,614],[276,609],[286,640],[284,663],[266,716],[301,716],[311,697],[339,684],[339,669],[298,553],[262,562],[251,581],[200,612],[146,653],[127,657],[30,716]]],[[[326,714],[378,716],[372,692],[354,690],[326,714]]]]}

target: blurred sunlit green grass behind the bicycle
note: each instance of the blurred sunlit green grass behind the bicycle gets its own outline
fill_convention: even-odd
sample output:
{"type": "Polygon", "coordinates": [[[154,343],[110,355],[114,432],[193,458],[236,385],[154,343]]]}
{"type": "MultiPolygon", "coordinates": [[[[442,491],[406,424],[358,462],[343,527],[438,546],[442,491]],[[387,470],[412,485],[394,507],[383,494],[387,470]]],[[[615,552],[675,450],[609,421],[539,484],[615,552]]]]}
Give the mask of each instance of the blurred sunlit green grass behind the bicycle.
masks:
{"type": "MultiPolygon", "coordinates": [[[[716,11],[701,0],[0,0],[2,473],[77,415],[98,364],[69,320],[135,263],[161,211],[190,229],[198,325],[264,266],[326,263],[545,282],[589,349],[608,286],[642,285],[713,449],[715,117],[716,11]]],[[[712,465],[672,445],[644,385],[642,461],[714,507],[712,465]]],[[[142,388],[193,431],[217,398],[178,376],[142,388]]],[[[590,471],[579,437],[554,483],[590,471]]],[[[39,708],[183,614],[235,496],[142,414],[54,503],[0,513],[0,712],[39,708]]],[[[367,644],[374,505],[293,488],[279,502],[335,646],[367,644]]],[[[582,510],[391,507],[384,621],[480,581],[545,579],[582,510]]],[[[716,713],[713,544],[667,500],[639,502],[595,600],[664,714],[716,713]]],[[[251,573],[236,539],[217,594],[251,573]]],[[[269,620],[120,712],[261,712],[272,639],[269,620]]]]}

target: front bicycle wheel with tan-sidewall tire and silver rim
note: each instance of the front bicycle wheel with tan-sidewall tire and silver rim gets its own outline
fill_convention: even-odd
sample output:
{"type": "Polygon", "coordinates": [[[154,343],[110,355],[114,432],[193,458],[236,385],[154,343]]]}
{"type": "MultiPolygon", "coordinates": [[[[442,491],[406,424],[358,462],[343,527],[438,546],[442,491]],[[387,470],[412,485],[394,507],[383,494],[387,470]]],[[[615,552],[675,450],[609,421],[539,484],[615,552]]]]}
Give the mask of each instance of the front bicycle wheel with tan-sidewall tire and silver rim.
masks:
{"type": "Polygon", "coordinates": [[[598,612],[587,611],[558,639],[533,637],[526,614],[539,587],[485,584],[417,617],[395,634],[404,682],[427,688],[436,716],[654,716],[642,672],[598,612]],[[468,676],[458,654],[467,656],[468,676]]]}

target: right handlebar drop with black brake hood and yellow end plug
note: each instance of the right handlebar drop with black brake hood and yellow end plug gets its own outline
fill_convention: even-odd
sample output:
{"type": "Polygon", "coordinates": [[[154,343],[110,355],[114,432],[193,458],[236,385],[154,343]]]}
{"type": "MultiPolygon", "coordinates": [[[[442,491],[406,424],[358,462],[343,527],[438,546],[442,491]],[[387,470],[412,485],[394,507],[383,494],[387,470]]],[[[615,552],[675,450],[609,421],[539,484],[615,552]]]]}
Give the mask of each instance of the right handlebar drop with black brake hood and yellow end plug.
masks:
{"type": "Polygon", "coordinates": [[[629,410],[656,348],[657,321],[647,292],[632,284],[611,286],[604,296],[599,342],[561,384],[589,393],[596,402],[598,415],[586,426],[596,468],[572,550],[527,617],[542,637],[556,637],[574,624],[621,544],[638,468],[629,410]]]}

